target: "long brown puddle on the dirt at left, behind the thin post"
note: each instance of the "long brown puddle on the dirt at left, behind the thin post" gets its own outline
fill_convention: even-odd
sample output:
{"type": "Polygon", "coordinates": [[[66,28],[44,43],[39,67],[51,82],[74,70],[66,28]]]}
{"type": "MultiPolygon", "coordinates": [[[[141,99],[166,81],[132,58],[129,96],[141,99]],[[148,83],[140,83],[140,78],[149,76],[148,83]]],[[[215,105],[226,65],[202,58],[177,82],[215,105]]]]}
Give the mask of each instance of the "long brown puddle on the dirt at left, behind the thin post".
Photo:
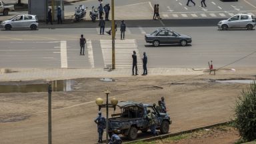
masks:
{"type": "MultiPolygon", "coordinates": [[[[53,91],[72,91],[75,85],[73,80],[59,80],[52,82],[53,91]]],[[[0,93],[31,93],[31,92],[47,92],[48,84],[45,83],[24,83],[24,82],[7,82],[0,83],[0,93]]]]}

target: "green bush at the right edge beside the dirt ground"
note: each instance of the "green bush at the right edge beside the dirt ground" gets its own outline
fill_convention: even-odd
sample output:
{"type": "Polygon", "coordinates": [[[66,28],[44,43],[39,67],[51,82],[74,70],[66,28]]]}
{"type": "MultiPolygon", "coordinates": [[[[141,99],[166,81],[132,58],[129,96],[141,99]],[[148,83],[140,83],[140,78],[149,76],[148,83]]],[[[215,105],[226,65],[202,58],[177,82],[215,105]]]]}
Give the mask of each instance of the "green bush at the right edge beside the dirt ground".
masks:
{"type": "Polygon", "coordinates": [[[256,83],[243,90],[235,104],[235,127],[244,141],[256,139],[256,83]]]}

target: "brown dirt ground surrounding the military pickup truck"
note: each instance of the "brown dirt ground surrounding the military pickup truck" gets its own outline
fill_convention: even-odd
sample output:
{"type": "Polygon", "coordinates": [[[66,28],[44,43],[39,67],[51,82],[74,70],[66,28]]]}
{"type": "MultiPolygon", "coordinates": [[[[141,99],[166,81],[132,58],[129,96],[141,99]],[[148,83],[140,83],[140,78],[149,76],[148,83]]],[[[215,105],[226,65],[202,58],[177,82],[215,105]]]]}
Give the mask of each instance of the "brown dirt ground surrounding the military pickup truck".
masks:
{"type": "MultiPolygon", "coordinates": [[[[113,82],[99,78],[75,79],[73,91],[52,94],[53,143],[96,143],[97,128],[93,120],[98,107],[95,99],[105,98],[103,91],[107,87],[111,91],[109,99],[115,97],[119,101],[157,103],[164,96],[173,120],[170,133],[229,121],[236,98],[249,84],[214,80],[255,79],[255,73],[255,67],[247,67],[200,77],[148,75],[118,77],[113,78],[113,82]]],[[[47,95],[45,92],[0,94],[1,144],[47,143],[47,95]]],[[[209,141],[211,139],[213,137],[209,137],[209,141]]]]}

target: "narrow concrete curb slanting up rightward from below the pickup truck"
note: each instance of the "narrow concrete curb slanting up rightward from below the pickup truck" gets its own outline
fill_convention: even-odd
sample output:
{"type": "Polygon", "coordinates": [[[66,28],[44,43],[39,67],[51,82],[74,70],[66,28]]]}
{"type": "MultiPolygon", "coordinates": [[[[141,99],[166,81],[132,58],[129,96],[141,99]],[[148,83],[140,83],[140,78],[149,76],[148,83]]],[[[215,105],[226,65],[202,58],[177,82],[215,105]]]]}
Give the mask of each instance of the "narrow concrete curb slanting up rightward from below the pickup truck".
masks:
{"type": "Polygon", "coordinates": [[[164,139],[164,138],[167,138],[167,137],[173,137],[173,136],[181,135],[181,134],[184,134],[184,133],[192,133],[192,132],[198,131],[200,129],[208,129],[208,128],[211,128],[211,127],[216,127],[216,126],[219,126],[219,125],[225,125],[225,124],[228,124],[228,123],[231,123],[231,121],[225,121],[225,122],[222,122],[222,123],[215,123],[213,125],[206,125],[206,126],[203,126],[203,127],[197,127],[195,129],[189,129],[189,130],[186,130],[186,131],[178,131],[176,133],[167,133],[165,135],[159,135],[157,137],[149,137],[149,138],[146,138],[146,139],[139,139],[139,140],[136,140],[136,141],[129,141],[129,142],[125,142],[125,143],[135,143],[135,142],[139,142],[139,141],[153,141],[153,140],[157,140],[157,139],[164,139]]]}

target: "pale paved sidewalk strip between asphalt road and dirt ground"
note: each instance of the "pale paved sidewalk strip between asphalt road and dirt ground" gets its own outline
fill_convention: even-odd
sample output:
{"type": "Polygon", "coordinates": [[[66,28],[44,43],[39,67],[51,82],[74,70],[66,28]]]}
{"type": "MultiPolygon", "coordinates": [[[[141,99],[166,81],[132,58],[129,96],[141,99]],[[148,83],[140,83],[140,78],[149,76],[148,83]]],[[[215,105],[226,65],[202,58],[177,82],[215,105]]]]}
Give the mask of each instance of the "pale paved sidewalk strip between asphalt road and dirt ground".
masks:
{"type": "MultiPolygon", "coordinates": [[[[139,69],[137,77],[157,75],[201,75],[203,71],[193,71],[187,68],[149,68],[148,75],[142,76],[143,69],[139,69]]],[[[0,69],[0,81],[31,81],[45,79],[47,81],[59,79],[76,79],[83,77],[131,77],[131,69],[0,69]]]]}

